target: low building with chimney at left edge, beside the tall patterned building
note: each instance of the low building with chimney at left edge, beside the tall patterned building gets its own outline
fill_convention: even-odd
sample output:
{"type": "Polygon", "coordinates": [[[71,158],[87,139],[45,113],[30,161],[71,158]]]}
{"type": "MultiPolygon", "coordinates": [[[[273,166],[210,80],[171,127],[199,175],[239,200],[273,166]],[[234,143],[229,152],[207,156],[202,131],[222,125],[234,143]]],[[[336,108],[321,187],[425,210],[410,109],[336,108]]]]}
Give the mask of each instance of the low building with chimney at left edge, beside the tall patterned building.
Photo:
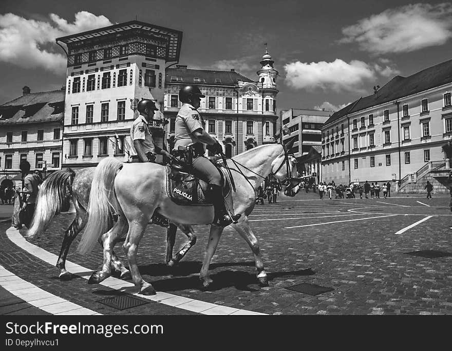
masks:
{"type": "MultiPolygon", "coordinates": [[[[31,169],[61,169],[65,91],[31,93],[0,105],[0,184],[20,180],[21,161],[31,169]]],[[[20,181],[19,181],[20,183],[20,181]]]]}

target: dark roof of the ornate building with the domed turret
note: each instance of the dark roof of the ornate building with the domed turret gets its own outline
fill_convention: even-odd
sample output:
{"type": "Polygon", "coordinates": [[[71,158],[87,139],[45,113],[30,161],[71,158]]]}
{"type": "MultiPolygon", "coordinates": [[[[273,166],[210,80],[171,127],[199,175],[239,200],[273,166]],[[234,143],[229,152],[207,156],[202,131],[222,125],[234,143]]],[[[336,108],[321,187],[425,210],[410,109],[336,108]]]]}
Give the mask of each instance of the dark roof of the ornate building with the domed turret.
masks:
{"type": "Polygon", "coordinates": [[[238,81],[254,82],[253,80],[242,76],[235,71],[216,71],[207,69],[190,69],[190,68],[168,68],[166,69],[166,83],[183,83],[183,84],[212,84],[212,85],[236,85],[238,81]],[[171,77],[181,77],[182,81],[172,81],[171,77]],[[194,81],[194,78],[200,81],[194,81]]]}

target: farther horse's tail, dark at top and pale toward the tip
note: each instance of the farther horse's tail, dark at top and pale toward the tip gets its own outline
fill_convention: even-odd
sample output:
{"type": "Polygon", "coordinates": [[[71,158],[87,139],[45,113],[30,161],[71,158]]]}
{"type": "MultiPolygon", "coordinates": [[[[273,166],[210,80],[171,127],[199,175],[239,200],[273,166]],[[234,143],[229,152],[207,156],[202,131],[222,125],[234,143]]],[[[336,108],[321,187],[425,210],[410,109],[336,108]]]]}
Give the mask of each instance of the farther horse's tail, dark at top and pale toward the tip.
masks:
{"type": "Polygon", "coordinates": [[[76,173],[70,168],[53,172],[41,184],[36,198],[32,224],[27,232],[28,236],[42,234],[48,227],[52,218],[59,214],[68,197],[72,195],[72,181],[76,173]],[[69,190],[69,196],[66,190],[69,190]]]}

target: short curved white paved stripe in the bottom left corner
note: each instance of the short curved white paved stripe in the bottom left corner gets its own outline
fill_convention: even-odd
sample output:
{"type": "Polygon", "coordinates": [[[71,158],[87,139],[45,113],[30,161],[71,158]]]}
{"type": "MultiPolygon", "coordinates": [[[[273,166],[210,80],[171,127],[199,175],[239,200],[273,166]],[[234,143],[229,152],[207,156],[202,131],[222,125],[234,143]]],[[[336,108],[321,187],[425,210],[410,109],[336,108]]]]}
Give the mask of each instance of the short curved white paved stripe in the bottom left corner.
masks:
{"type": "Polygon", "coordinates": [[[24,300],[30,305],[52,313],[52,315],[88,315],[98,314],[88,308],[69,302],[65,299],[51,294],[27,281],[19,278],[14,273],[0,265],[0,275],[2,281],[0,286],[10,293],[24,300]]]}

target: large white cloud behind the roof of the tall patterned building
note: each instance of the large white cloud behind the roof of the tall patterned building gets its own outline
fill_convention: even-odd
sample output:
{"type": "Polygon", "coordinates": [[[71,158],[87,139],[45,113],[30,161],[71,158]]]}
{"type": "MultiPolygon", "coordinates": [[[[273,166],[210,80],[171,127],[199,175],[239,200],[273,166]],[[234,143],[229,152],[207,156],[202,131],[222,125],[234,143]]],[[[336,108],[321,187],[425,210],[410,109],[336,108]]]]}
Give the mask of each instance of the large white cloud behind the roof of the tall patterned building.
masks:
{"type": "Polygon", "coordinates": [[[50,21],[46,22],[13,13],[0,15],[0,61],[62,73],[66,70],[66,56],[55,44],[56,38],[111,25],[107,17],[86,11],[77,12],[73,23],[54,13],[49,17],[50,21]]]}

